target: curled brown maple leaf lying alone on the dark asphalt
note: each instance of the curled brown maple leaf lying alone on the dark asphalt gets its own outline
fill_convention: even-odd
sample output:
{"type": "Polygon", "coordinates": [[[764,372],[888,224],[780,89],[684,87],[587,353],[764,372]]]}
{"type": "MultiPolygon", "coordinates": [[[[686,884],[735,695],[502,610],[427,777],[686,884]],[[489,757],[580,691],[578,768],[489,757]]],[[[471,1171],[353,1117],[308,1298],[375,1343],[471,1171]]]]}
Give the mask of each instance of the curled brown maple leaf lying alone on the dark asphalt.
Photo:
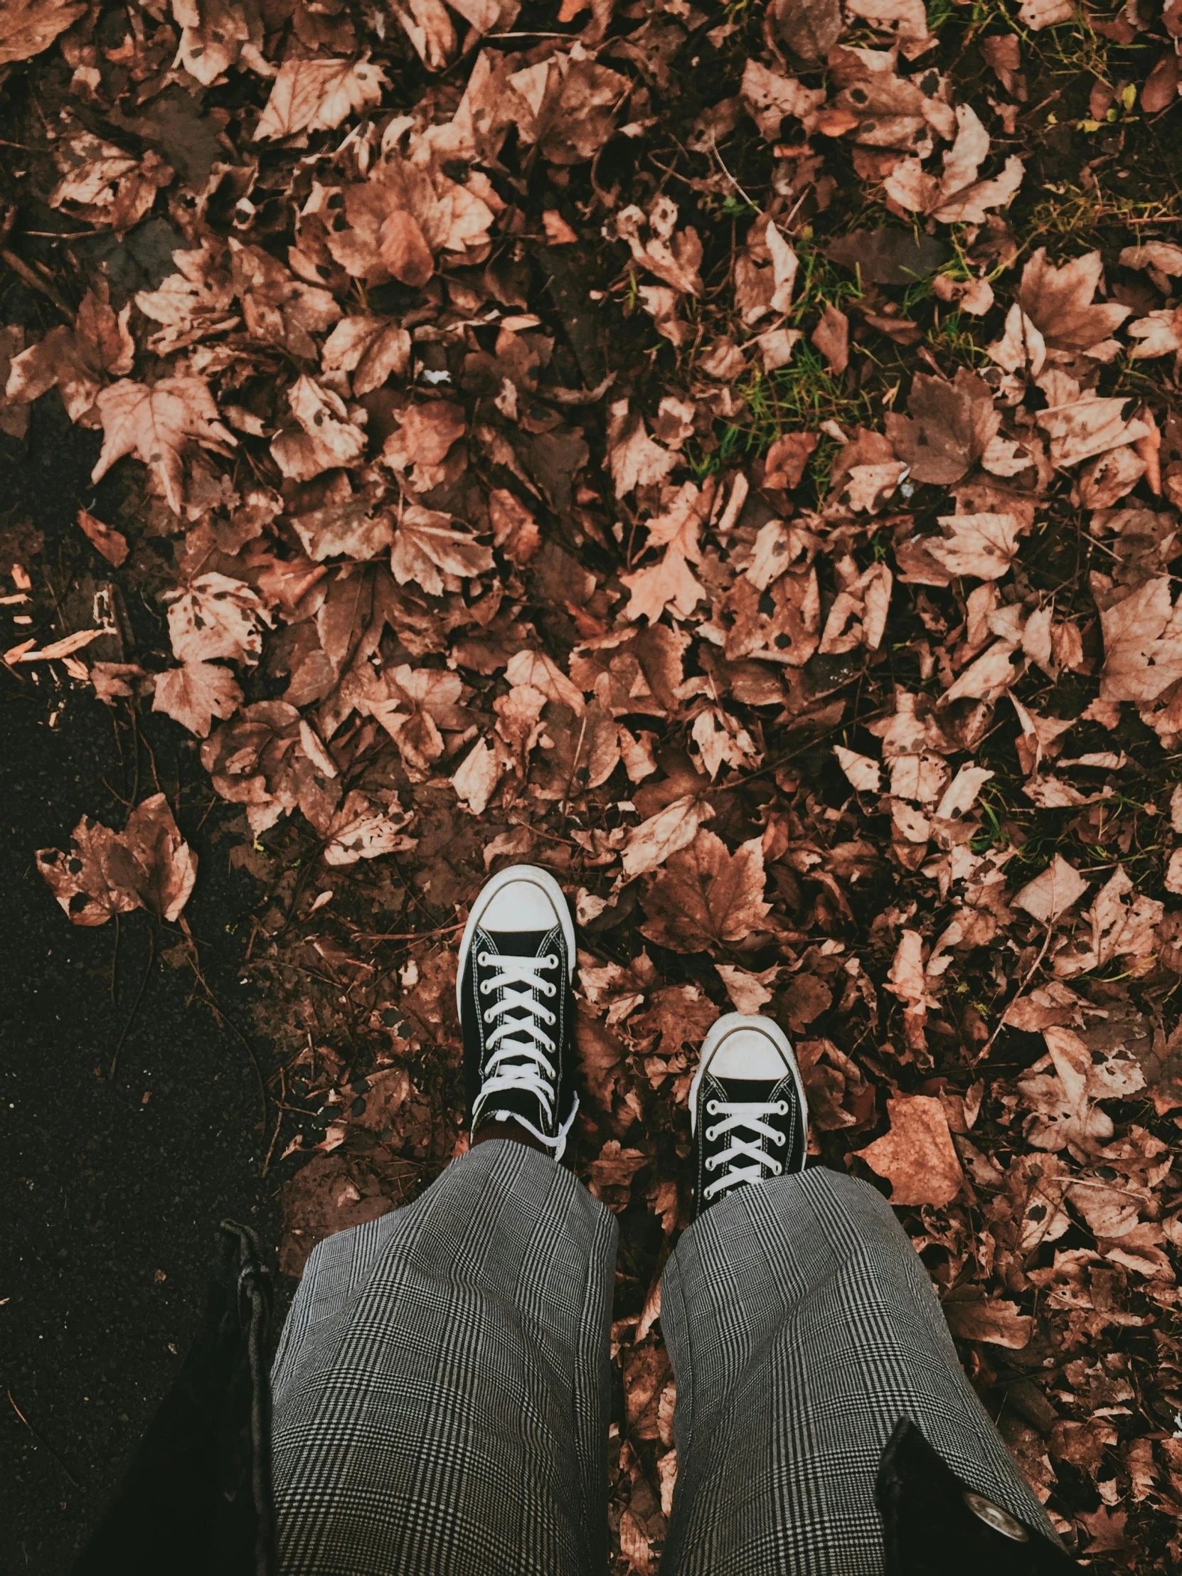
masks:
{"type": "Polygon", "coordinates": [[[136,908],[175,924],[197,881],[197,856],[162,793],[137,805],[121,832],[84,815],[72,842],[72,854],[39,848],[36,862],[76,925],[104,925],[136,908]]]}

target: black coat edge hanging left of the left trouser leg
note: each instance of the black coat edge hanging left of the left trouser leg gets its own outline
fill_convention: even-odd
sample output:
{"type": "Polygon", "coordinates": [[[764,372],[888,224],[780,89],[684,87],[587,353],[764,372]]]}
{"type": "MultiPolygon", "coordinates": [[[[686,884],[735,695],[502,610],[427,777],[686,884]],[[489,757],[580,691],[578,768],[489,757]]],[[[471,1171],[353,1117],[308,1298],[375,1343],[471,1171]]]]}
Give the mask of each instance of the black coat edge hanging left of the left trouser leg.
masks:
{"type": "Polygon", "coordinates": [[[205,1314],[74,1576],[273,1576],[271,1277],[224,1220],[205,1314]]]}

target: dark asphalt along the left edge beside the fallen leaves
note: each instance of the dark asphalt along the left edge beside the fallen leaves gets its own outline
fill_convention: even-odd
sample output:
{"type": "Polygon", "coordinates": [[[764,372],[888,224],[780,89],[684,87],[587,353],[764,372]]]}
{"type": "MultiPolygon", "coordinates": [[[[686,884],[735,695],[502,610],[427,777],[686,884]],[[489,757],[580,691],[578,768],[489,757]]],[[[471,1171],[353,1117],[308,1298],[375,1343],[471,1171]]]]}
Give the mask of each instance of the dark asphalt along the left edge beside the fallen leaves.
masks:
{"type": "MultiPolygon", "coordinates": [[[[39,407],[32,448],[9,448],[0,466],[0,523],[35,517],[46,545],[27,567],[35,582],[49,569],[61,591],[101,574],[72,523],[90,496],[91,435],[71,432],[55,394],[39,407]]],[[[3,634],[5,646],[19,638],[8,621],[3,634]]],[[[35,868],[33,851],[61,845],[84,813],[121,826],[120,796],[136,780],[126,723],[117,738],[112,712],[77,690],[50,727],[60,703],[0,668],[3,1576],[69,1570],[180,1366],[217,1221],[254,1225],[268,1250],[279,1228],[241,1040],[194,994],[189,969],[158,958],[145,974],[153,922],[142,913],[121,920],[112,999],[115,925],[71,925],[35,868]]],[[[236,963],[251,884],[227,870],[224,812],[203,820],[208,779],[178,733],[145,720],[161,786],[200,857],[186,917],[214,996],[249,1035],[236,963]]],[[[139,772],[142,799],[154,790],[147,747],[139,772]]],[[[177,939],[158,930],[158,952],[177,939]]]]}

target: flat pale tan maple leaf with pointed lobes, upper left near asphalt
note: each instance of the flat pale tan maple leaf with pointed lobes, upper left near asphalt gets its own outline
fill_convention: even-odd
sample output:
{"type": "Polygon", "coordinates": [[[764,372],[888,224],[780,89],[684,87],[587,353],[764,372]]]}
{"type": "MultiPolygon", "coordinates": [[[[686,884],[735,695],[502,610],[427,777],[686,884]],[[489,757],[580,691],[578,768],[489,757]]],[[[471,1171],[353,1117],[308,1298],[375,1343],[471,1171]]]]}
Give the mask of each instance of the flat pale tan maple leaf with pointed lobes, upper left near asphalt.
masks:
{"type": "Polygon", "coordinates": [[[99,481],[115,460],[136,454],[154,471],[173,514],[184,507],[189,444],[222,449],[238,443],[217,421],[217,407],[203,378],[162,378],[151,388],[125,378],[102,389],[95,403],[102,419],[102,451],[90,479],[99,481]]]}

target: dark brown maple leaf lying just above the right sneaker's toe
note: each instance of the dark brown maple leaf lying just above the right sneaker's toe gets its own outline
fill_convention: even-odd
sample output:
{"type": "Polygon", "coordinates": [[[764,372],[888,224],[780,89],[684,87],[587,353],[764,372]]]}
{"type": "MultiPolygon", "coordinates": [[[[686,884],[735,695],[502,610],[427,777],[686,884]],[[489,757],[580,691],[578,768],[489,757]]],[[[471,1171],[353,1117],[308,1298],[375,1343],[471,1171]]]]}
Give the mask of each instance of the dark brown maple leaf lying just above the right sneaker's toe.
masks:
{"type": "Polygon", "coordinates": [[[763,886],[758,837],[731,854],[720,837],[700,827],[693,842],[670,854],[660,875],[649,878],[641,935],[673,952],[704,952],[742,941],[771,911],[763,886]]]}

